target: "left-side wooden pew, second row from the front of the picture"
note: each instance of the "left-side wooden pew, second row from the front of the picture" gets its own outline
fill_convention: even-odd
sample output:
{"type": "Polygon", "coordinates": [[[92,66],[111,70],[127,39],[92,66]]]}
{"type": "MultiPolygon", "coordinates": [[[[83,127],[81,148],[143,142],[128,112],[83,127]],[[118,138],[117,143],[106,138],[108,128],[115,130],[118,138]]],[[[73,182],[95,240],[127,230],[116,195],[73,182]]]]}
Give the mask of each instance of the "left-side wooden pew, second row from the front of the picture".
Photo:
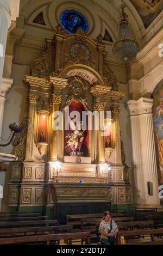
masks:
{"type": "Polygon", "coordinates": [[[26,228],[3,228],[0,229],[0,237],[4,236],[18,236],[18,235],[40,235],[43,233],[63,233],[72,232],[72,225],[58,225],[58,226],[47,226],[47,227],[26,227],[26,228]],[[33,233],[33,234],[31,234],[33,233]]]}

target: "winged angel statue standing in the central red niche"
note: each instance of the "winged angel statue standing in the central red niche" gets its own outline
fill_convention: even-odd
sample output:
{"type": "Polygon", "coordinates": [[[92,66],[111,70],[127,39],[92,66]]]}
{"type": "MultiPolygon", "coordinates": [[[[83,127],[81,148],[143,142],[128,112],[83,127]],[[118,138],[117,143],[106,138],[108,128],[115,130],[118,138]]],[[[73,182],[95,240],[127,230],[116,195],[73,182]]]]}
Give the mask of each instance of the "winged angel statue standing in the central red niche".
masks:
{"type": "Polygon", "coordinates": [[[72,133],[66,135],[68,141],[65,148],[70,147],[71,153],[70,156],[83,156],[83,152],[80,152],[82,144],[84,142],[84,132],[82,130],[82,121],[77,121],[77,125],[69,118],[70,128],[73,131],[72,133]]]}

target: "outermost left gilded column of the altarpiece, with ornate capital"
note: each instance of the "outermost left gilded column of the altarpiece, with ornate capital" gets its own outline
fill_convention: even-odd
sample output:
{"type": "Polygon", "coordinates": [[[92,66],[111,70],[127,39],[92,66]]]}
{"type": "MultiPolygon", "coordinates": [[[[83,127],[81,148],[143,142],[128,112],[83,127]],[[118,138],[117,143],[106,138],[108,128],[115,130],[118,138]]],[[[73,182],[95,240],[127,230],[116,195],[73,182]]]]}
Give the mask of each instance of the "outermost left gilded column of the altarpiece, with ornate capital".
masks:
{"type": "Polygon", "coordinates": [[[29,94],[29,127],[27,132],[26,161],[31,160],[33,157],[37,101],[39,101],[39,96],[35,94],[29,94]]]}

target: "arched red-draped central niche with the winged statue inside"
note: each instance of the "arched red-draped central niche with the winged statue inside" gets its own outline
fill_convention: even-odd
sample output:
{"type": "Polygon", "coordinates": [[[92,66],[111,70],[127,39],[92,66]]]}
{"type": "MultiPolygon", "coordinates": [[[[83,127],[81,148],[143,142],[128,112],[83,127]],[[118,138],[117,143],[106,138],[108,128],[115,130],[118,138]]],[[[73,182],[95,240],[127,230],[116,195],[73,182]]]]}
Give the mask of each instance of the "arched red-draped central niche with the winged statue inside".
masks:
{"type": "MultiPolygon", "coordinates": [[[[78,111],[78,113],[80,114],[80,120],[83,121],[82,112],[86,110],[82,103],[72,101],[69,106],[69,114],[71,114],[72,111],[78,111]]],[[[71,118],[71,120],[73,120],[74,118],[75,116],[71,118]]],[[[74,124],[77,125],[76,123],[74,124]]],[[[64,156],[89,156],[89,132],[87,118],[86,130],[81,130],[78,133],[78,136],[74,135],[74,133],[75,132],[71,130],[71,127],[69,130],[64,131],[64,156]]]]}

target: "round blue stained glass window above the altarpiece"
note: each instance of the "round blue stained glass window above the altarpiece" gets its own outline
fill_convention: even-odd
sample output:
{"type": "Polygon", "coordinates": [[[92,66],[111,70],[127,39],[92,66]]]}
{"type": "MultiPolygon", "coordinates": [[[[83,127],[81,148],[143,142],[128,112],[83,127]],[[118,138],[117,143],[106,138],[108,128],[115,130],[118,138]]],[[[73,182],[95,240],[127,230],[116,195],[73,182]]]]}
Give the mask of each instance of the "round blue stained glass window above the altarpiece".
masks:
{"type": "Polygon", "coordinates": [[[67,10],[60,16],[61,26],[70,34],[76,33],[79,28],[82,28],[86,33],[88,23],[85,17],[78,11],[67,10]]]}

